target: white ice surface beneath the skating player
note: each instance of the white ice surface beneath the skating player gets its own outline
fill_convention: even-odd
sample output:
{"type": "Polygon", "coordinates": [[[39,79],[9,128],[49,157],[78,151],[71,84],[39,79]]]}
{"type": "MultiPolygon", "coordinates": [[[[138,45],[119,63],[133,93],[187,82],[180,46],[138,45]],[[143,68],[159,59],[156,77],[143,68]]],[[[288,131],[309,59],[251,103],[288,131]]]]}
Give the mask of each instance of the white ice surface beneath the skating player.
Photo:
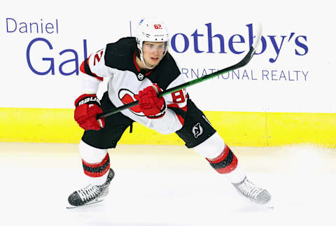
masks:
{"type": "Polygon", "coordinates": [[[336,225],[336,150],[232,147],[274,209],[240,197],[184,146],[109,150],[116,172],[104,202],[66,209],[86,185],[76,144],[0,143],[0,225],[336,225]]]}

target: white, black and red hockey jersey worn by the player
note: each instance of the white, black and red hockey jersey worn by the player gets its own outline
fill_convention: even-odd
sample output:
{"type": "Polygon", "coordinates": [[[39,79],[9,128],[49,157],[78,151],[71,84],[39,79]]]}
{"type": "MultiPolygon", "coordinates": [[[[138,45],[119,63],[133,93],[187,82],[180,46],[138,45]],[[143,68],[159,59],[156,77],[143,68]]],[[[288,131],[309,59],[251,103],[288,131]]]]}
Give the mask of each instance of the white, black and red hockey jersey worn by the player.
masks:
{"type": "MultiPolygon", "coordinates": [[[[127,37],[92,53],[80,65],[83,92],[97,92],[103,78],[109,78],[109,99],[118,107],[136,101],[134,95],[153,83],[158,84],[162,90],[167,90],[186,82],[169,52],[154,69],[143,71],[135,62],[136,51],[135,38],[127,37]]],[[[123,110],[121,113],[161,134],[171,134],[181,129],[184,122],[181,115],[172,109],[186,112],[188,95],[186,89],[183,89],[167,94],[164,98],[168,108],[162,118],[147,118],[139,106],[123,110]]]]}

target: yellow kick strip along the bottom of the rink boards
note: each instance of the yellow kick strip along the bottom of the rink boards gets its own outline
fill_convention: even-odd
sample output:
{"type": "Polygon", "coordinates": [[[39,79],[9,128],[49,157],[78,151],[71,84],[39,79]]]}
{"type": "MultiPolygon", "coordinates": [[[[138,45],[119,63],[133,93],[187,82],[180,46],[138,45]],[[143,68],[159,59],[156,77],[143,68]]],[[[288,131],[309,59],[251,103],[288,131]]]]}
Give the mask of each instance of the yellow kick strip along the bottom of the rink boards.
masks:
{"type": "MultiPolygon", "coordinates": [[[[226,143],[234,146],[281,146],[311,143],[336,147],[335,113],[262,113],[204,111],[226,143]]],[[[1,142],[78,143],[83,134],[73,109],[0,108],[1,142]]],[[[176,134],[162,135],[134,123],[122,144],[181,145],[176,134]],[[150,139],[148,139],[150,138],[150,139]]]]}

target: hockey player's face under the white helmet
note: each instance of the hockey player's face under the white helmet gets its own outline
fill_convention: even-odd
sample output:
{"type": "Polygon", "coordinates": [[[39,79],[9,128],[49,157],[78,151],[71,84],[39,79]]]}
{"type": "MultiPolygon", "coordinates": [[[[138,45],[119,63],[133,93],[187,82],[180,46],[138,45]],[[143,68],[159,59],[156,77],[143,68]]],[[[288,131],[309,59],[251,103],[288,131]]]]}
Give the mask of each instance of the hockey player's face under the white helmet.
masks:
{"type": "Polygon", "coordinates": [[[142,46],[142,54],[146,65],[149,67],[157,66],[165,53],[165,43],[145,41],[142,46]]]}

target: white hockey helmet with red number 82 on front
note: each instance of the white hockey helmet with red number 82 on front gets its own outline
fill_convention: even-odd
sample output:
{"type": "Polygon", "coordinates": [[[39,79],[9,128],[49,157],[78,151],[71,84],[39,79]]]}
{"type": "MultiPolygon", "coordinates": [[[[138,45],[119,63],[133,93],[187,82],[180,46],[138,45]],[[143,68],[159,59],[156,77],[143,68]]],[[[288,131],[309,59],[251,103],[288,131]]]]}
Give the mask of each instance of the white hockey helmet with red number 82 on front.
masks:
{"type": "Polygon", "coordinates": [[[137,47],[139,49],[139,55],[141,61],[145,64],[148,69],[153,69],[153,67],[148,67],[144,61],[144,55],[142,53],[142,45],[144,41],[152,42],[165,42],[165,52],[162,57],[165,56],[168,50],[169,43],[169,33],[167,27],[162,20],[158,18],[142,18],[137,27],[137,33],[135,36],[137,40],[137,47]]]}

